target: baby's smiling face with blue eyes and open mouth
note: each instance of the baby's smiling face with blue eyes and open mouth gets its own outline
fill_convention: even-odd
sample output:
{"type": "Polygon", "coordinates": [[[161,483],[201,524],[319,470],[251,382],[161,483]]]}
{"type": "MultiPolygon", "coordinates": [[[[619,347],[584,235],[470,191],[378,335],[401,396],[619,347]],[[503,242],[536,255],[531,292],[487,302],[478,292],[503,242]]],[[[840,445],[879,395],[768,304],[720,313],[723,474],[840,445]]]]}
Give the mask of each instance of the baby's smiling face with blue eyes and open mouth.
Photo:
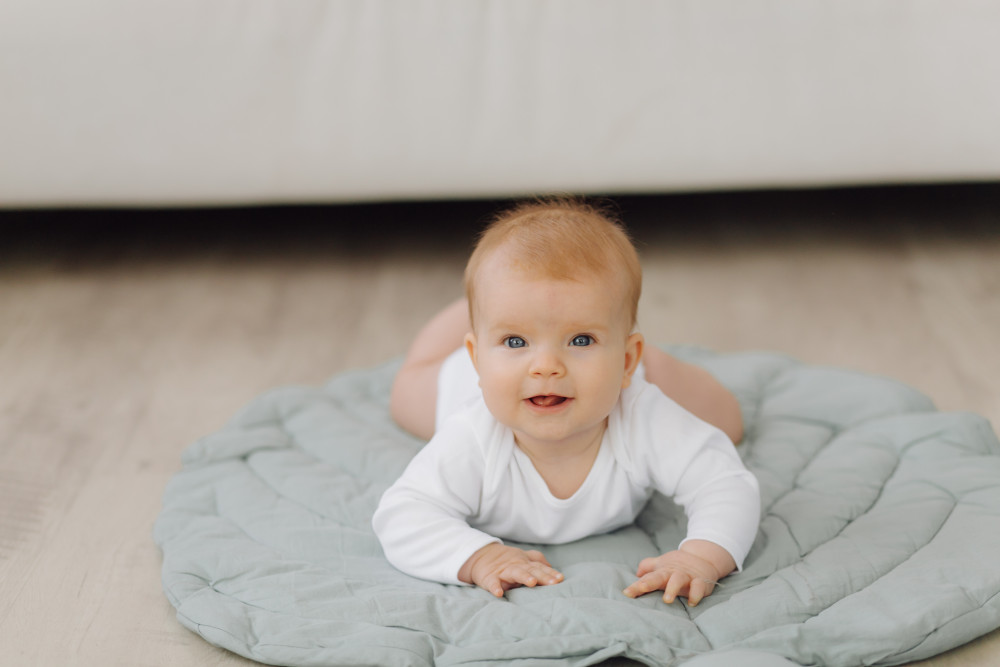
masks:
{"type": "Polygon", "coordinates": [[[603,435],[643,345],[630,335],[617,282],[538,278],[502,256],[480,268],[466,344],[487,407],[522,447],[571,447],[603,435]]]}

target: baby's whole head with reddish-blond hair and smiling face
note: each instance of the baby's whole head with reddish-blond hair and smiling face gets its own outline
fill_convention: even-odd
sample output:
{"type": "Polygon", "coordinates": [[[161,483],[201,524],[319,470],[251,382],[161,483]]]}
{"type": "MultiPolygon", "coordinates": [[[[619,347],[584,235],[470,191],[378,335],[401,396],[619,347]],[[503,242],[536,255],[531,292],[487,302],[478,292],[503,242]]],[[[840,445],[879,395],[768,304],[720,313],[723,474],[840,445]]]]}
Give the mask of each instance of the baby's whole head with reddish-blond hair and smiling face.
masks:
{"type": "Polygon", "coordinates": [[[522,448],[600,438],[642,357],[641,283],[628,236],[591,206],[521,205],[487,228],[466,268],[465,344],[522,448]]]}

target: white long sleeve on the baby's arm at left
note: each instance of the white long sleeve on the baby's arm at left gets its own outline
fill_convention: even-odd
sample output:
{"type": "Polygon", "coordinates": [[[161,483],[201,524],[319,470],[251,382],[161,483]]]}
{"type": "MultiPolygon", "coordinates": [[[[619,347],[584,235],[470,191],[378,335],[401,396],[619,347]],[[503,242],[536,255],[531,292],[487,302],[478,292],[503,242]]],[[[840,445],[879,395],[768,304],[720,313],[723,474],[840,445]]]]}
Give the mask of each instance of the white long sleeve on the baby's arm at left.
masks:
{"type": "Polygon", "coordinates": [[[471,528],[479,511],[484,458],[472,429],[450,420],[382,496],[372,527],[386,558],[414,577],[461,584],[468,558],[497,538],[471,528]]]}

